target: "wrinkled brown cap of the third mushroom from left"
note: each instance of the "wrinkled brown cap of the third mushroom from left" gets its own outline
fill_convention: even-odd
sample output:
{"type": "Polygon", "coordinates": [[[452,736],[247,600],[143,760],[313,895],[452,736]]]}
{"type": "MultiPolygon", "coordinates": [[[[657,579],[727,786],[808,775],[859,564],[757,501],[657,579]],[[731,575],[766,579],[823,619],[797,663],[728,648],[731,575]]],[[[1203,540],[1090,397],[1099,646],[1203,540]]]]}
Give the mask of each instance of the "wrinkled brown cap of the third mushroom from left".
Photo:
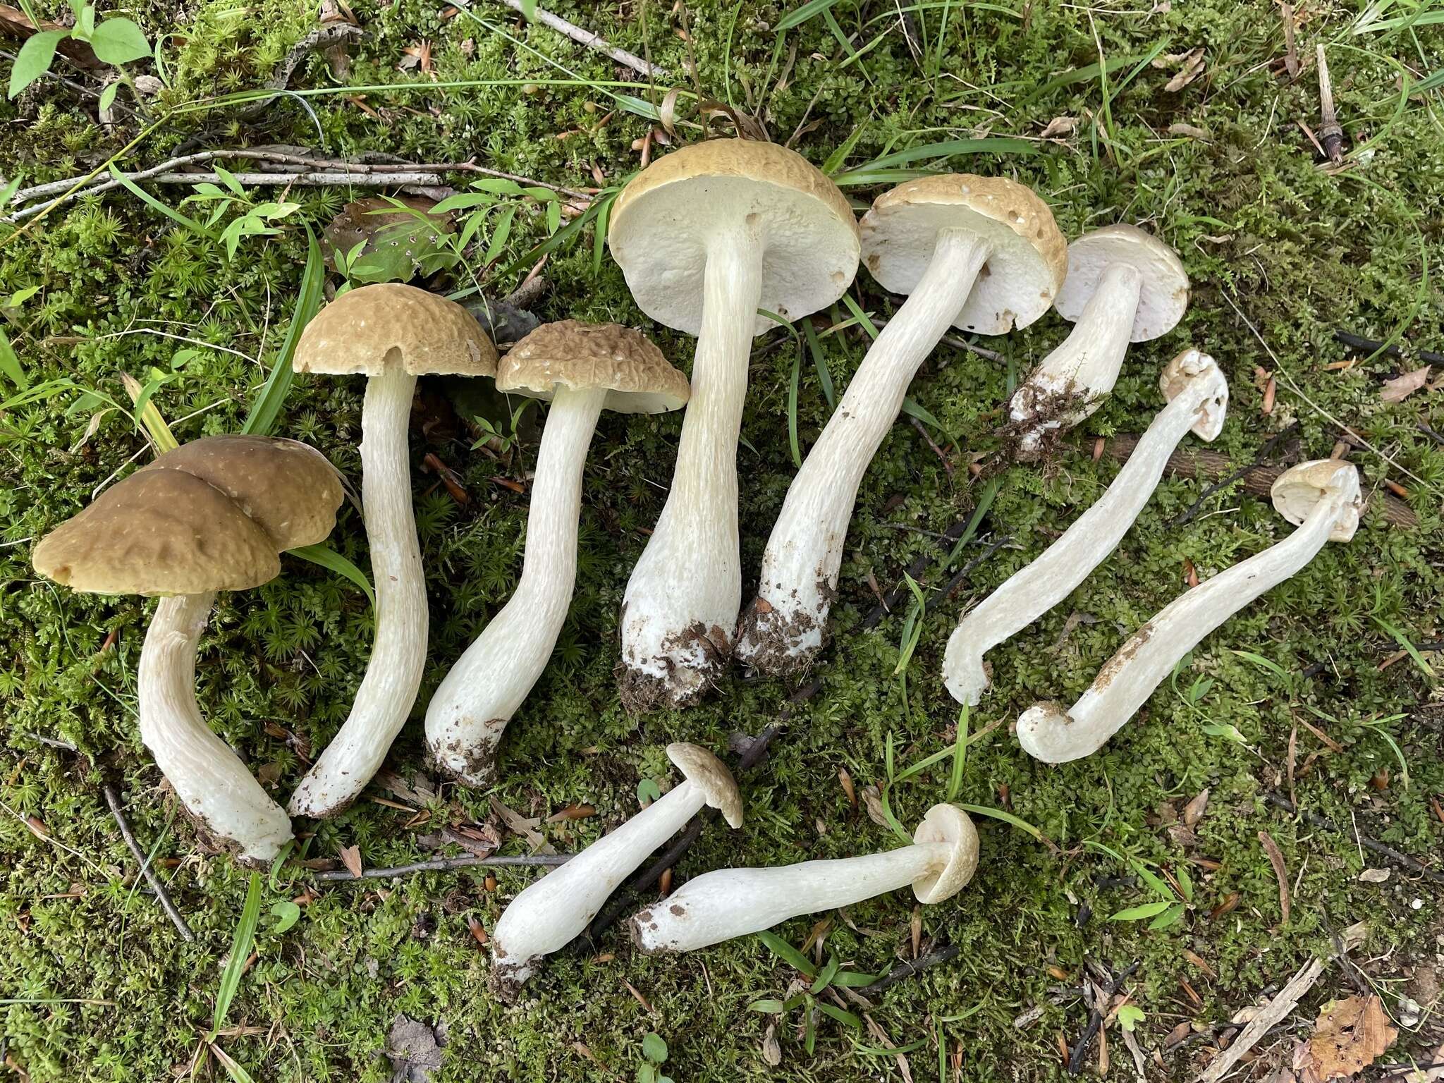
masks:
{"type": "Polygon", "coordinates": [[[619,323],[543,323],[497,364],[497,390],[552,399],[557,387],[608,391],[618,413],[666,413],[687,403],[687,377],[640,331],[619,323]]]}

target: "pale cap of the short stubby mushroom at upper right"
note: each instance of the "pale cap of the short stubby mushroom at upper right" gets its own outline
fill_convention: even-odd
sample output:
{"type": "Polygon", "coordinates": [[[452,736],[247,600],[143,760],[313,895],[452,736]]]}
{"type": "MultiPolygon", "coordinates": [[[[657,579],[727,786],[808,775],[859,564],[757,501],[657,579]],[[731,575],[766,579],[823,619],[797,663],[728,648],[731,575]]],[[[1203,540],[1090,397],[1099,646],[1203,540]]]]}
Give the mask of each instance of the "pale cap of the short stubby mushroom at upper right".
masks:
{"type": "Polygon", "coordinates": [[[1188,308],[1188,273],[1177,253],[1134,225],[1105,225],[1069,245],[1069,277],[1056,302],[1063,319],[1083,315],[1103,270],[1123,264],[1138,271],[1142,290],[1134,315],[1134,342],[1173,331],[1188,308]]]}

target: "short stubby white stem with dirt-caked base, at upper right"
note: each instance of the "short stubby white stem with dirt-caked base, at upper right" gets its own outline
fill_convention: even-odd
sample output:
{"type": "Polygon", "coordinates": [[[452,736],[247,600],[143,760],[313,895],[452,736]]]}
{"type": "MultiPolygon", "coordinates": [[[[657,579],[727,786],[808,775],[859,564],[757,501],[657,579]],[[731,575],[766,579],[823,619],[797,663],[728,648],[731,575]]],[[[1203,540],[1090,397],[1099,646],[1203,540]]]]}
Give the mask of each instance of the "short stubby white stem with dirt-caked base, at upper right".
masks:
{"type": "Polygon", "coordinates": [[[1142,287],[1144,276],[1131,264],[1112,263],[1103,269],[1073,332],[1014,393],[1009,406],[1014,425],[1037,422],[1022,430],[1021,452],[1037,451],[1050,432],[1071,429],[1102,406],[1123,368],[1142,287]]]}

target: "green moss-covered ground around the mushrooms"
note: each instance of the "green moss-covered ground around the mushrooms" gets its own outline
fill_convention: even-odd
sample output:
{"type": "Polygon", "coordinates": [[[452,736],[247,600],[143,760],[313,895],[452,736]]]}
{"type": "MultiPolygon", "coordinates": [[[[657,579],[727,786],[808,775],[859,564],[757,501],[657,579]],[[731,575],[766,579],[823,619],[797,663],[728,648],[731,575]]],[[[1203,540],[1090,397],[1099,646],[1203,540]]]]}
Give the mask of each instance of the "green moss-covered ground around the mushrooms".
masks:
{"type": "MultiPolygon", "coordinates": [[[[1011,812],[1047,843],[979,817],[976,881],[917,918],[924,941],[946,936],[962,952],[874,998],[866,1014],[910,1050],[914,1079],[939,1071],[939,1040],[947,1079],[1053,1077],[1061,1073],[1060,1041],[1074,1043],[1087,1018],[1071,989],[1084,957],[1116,969],[1136,960],[1128,988],[1145,1012],[1136,1034],[1149,1076],[1181,1079],[1216,1048],[1209,1027],[1279,986],[1311,954],[1327,954],[1330,931],[1352,923],[1367,923],[1369,940],[1356,957],[1386,1006],[1395,1009],[1406,989],[1427,993],[1421,967],[1441,966],[1438,884],[1362,849],[1354,832],[1441,865],[1444,708],[1438,684],[1414,658],[1391,658],[1401,638],[1419,645],[1441,638],[1444,446],[1425,426],[1444,429],[1444,412],[1440,391],[1428,388],[1402,403],[1382,401],[1383,381],[1419,362],[1349,351],[1333,331],[1440,349],[1444,101],[1438,90],[1417,87],[1444,66],[1437,20],[1409,25],[1427,12],[1401,0],[1375,4],[1372,22],[1357,32],[1349,6],[1302,4],[1301,72],[1291,78],[1281,9],[1264,0],[901,9],[842,0],[827,16],[771,29],[796,6],[557,6],[663,65],[670,78],[651,91],[645,82],[611,85],[635,77],[549,29],[527,27],[501,4],[477,0],[456,12],[423,0],[361,0],[354,13],[364,38],[349,46],[345,79],[313,53],[292,82],[322,91],[305,100],[309,108],[283,98],[243,120],[234,105],[198,103],[261,85],[313,14],[282,0],[149,4],[131,14],[162,39],[169,87],[149,103],[162,120],[155,130],[143,133],[126,114],[101,127],[90,100],[55,82],[0,105],[3,172],[23,172],[25,183],[81,173],[113,155],[139,168],[182,143],[287,143],[412,162],[475,156],[547,183],[591,188],[617,185],[638,168],[634,140],[650,127],[608,94],[661,104],[667,88],[680,87],[673,142],[702,137],[706,117],[693,97],[700,91],[760,118],[774,140],[799,131],[794,146],[819,165],[853,139],[843,169],[947,140],[1027,140],[1001,155],[924,152],[902,165],[1017,178],[1048,199],[1069,235],[1138,222],[1187,264],[1194,293],[1181,326],[1129,354],[1113,396],[1047,468],[1004,464],[996,495],[953,567],[943,566],[934,534],[966,520],[980,498],[983,482],[972,479],[967,464],[993,446],[1011,384],[1067,326],[1048,315],[988,341],[996,361],[939,348],[911,394],[953,474],[901,419],[858,498],[835,644],[799,682],[816,686],[797,702],[797,686],[734,676],[692,710],[632,719],[619,709],[612,676],[618,605],[661,508],[680,419],[604,416],[586,471],[576,601],[552,666],[507,734],[501,783],[491,794],[445,786],[420,809],[373,787],[339,819],[303,825],[315,832],[305,856],[335,859],[354,845],[367,865],[414,861],[430,853],[423,836],[440,826],[495,823],[490,797],[543,819],[566,806],[593,806],[589,819],[542,827],[557,849],[580,848],[635,812],[641,780],[676,781],[663,755],[669,741],[721,749],[729,734],[755,734],[778,719],[783,732],[767,764],[744,784],[747,825],[735,836],[709,829],[674,882],[725,864],[897,845],[866,814],[862,791],[887,787],[890,748],[900,773],[954,741],[957,706],[939,666],[962,604],[1022,567],[1102,492],[1118,466],[1108,456],[1093,461],[1095,438],[1141,432],[1160,406],[1160,365],[1196,344],[1229,375],[1230,416],[1217,448],[1238,465],[1294,423],[1294,453],[1326,456],[1346,426],[1367,445],[1352,452],[1366,487],[1380,497],[1386,482],[1406,490],[1417,526],[1391,526],[1372,511],[1352,543],[1330,546],[1209,635],[1177,680],[1100,754],[1066,767],[1034,762],[1008,721],[1037,699],[1077,696],[1131,630],[1187,588],[1190,569],[1207,579],[1289,530],[1238,487],[1210,495],[1177,524],[1203,482],[1165,479],[1118,552],[1054,612],[993,651],[993,690],[969,722],[973,732],[1004,725],[970,747],[959,800],[1011,812]],[[399,69],[403,51],[423,40],[430,71],[399,69]],[[1317,43],[1328,46],[1349,152],[1337,170],[1321,168],[1304,130],[1318,129],[1317,43]],[[1180,72],[1177,61],[1147,62],[1167,64],[1196,48],[1203,71],[1178,90],[1167,88],[1180,72]],[[1071,129],[1054,126],[1040,142],[1057,117],[1071,118],[1071,129]],[[875,605],[872,583],[887,591],[921,559],[921,588],[936,589],[999,537],[1014,543],[980,562],[923,619],[904,687],[894,670],[908,606],[864,628],[875,605]],[[856,809],[839,781],[843,770],[856,809]],[[1206,814],[1183,830],[1184,806],[1206,787],[1206,814]],[[1344,833],[1279,812],[1265,801],[1271,791],[1297,793],[1301,806],[1344,833]],[[1282,852],[1292,895],[1287,924],[1261,832],[1282,852]],[[1149,928],[1147,920],[1109,920],[1161,901],[1131,862],[1191,884],[1193,901],[1177,921],[1149,928]],[[1382,884],[1360,881],[1366,868],[1391,872],[1382,884]],[[1406,986],[1411,975],[1415,983],[1406,986]],[[1034,1005],[1041,1015],[1015,1027],[1034,1005]],[[1187,1021],[1201,1032],[1165,1048],[1165,1035],[1187,1021]]],[[[64,6],[43,4],[42,13],[46,7],[64,6]]],[[[136,72],[155,72],[155,65],[136,72]]],[[[92,75],[68,74],[98,87],[92,75]]],[[[716,113],[712,127],[731,133],[732,121],[716,113]]],[[[464,189],[468,178],[453,180],[464,189]]],[[[848,192],[861,206],[887,183],[848,192]]],[[[188,193],[149,191],[170,205],[188,193]]],[[[276,235],[244,240],[234,260],[124,191],[65,204],[0,238],[0,297],[35,289],[19,303],[12,297],[4,313],[26,375],[32,386],[75,384],[0,409],[0,1076],[165,1080],[192,1066],[201,1076],[224,1074],[198,1048],[211,1028],[248,874],[204,851],[136,736],[134,673],[152,605],[71,595],[39,580],[29,553],[101,482],[149,453],[130,419],[111,406],[127,401],[121,373],[140,380],[150,367],[170,373],[179,349],[195,349],[156,390],[155,406],[182,440],[240,426],[284,338],[305,263],[302,222],[319,228],[360,193],[292,191],[300,209],[277,222],[276,235]],[[107,781],[118,787],[142,845],[156,848],[196,943],[182,943],[137,887],[136,862],[101,796],[107,781]]],[[[274,189],[254,196],[273,198],[274,189]]],[[[488,219],[488,231],[495,221],[488,219]]],[[[490,267],[482,260],[484,232],[468,266],[433,287],[466,287],[475,276],[488,292],[505,293],[544,235],[544,215],[523,208],[500,258],[490,267]]],[[[593,273],[591,227],[575,247],[553,253],[544,274],[552,292],[537,306],[540,316],[641,325],[689,362],[692,341],[650,326],[615,264],[602,258],[593,273]]],[[[879,318],[895,305],[865,273],[851,296],[879,318]]],[[[826,323],[848,315],[839,308],[826,323]]],[[[822,345],[832,380],[845,386],[865,334],[851,326],[822,345]]],[[[783,332],[757,347],[739,464],[742,557],[751,576],[794,471],[788,384],[797,364],[783,332]]],[[[6,386],[4,394],[14,391],[6,386]]],[[[297,378],[277,432],[312,442],[355,479],[360,401],[360,381],[297,378]]],[[[827,412],[809,355],[796,406],[803,452],[827,412]]],[[[498,481],[524,485],[536,451],[534,433],[526,435],[510,462],[498,462],[472,451],[464,429],[426,427],[430,442],[420,423],[413,433],[413,475],[433,644],[413,722],[388,762],[404,780],[423,770],[426,696],[516,580],[526,494],[498,481]],[[426,452],[459,471],[469,504],[422,471],[426,452]]],[[[354,510],[342,514],[332,544],[365,567],[354,510]]],[[[222,599],[201,650],[202,708],[283,799],[305,770],[299,752],[321,748],[345,718],[370,643],[370,609],[358,589],[315,565],[286,562],[276,582],[222,599]]],[[[944,758],[891,790],[904,825],[941,800],[949,771],[944,758]]],[[[521,849],[520,839],[507,839],[505,852],[521,849]]],[[[491,890],[481,869],[315,885],[306,868],[286,865],[266,879],[254,959],[217,1045],[257,1080],[381,1080],[390,1073],[388,1028],[406,1014],[445,1028],[438,1080],[631,1079],[648,1032],[669,1043],[666,1070],[677,1080],[902,1077],[897,1058],[868,1051],[882,1041],[875,1032],[856,1034],[827,1018],[807,1053],[800,1012],[781,1024],[781,1064],[770,1067],[762,1047],[771,1017],[748,1005],[784,995],[796,975],[755,939],[647,959],[612,934],[601,954],[553,959],[518,1005],[498,1004],[487,992],[488,959],[469,920],[490,928],[534,875],[500,869],[491,890]],[[293,898],[302,902],[300,920],[276,931],[271,904],[293,898]]],[[[799,918],[777,931],[801,944],[814,921],[799,918]]],[[[907,892],[852,907],[833,915],[825,954],[855,970],[885,970],[911,956],[913,921],[907,892]]],[[[1343,967],[1331,963],[1300,1015],[1313,1018],[1323,1001],[1352,991],[1343,967]]],[[[1435,1027],[1438,1044],[1438,1004],[1432,1011],[1424,1025],[1435,1027]]],[[[1116,1024],[1108,1037],[1109,1074],[1131,1079],[1116,1024]]],[[[1261,1048],[1276,1053],[1292,1040],[1274,1035],[1261,1048]]],[[[1405,1060],[1409,1050],[1422,1054],[1422,1035],[1406,1032],[1386,1060],[1405,1060]]],[[[1096,1050],[1089,1064],[1095,1070],[1096,1050]]]]}

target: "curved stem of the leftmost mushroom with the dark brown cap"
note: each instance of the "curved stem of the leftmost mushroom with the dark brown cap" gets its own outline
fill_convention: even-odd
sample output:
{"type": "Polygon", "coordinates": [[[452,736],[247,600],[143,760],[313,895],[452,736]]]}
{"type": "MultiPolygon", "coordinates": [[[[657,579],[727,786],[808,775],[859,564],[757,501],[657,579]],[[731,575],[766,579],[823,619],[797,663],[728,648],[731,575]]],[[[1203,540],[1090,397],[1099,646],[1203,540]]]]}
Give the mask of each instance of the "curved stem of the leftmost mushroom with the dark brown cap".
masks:
{"type": "Polygon", "coordinates": [[[270,862],[290,820],[245,764],[211,732],[195,702],[195,651],[214,592],[162,598],[140,651],[140,739],[186,812],[241,859],[270,862]]]}

